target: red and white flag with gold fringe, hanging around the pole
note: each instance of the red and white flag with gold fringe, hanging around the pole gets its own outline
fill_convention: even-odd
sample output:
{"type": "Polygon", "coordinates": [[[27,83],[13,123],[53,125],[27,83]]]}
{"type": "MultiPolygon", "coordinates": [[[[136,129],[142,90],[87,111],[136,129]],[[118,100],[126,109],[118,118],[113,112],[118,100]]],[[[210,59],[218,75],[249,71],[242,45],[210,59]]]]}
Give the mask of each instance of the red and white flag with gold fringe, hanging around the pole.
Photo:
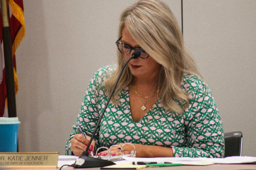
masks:
{"type": "MultiPolygon", "coordinates": [[[[12,39],[12,54],[13,54],[13,70],[15,81],[15,93],[18,91],[18,80],[16,75],[16,58],[15,52],[20,42],[25,36],[25,21],[24,21],[24,7],[23,0],[9,0],[12,8],[12,15],[10,18],[10,29],[12,39]]],[[[1,17],[0,17],[1,20],[1,17]]],[[[2,23],[2,22],[0,22],[2,23]]],[[[0,27],[0,39],[2,44],[2,27],[0,27]]],[[[4,107],[6,103],[6,84],[5,84],[5,69],[4,69],[4,57],[0,52],[0,117],[4,114],[4,107]]]]}

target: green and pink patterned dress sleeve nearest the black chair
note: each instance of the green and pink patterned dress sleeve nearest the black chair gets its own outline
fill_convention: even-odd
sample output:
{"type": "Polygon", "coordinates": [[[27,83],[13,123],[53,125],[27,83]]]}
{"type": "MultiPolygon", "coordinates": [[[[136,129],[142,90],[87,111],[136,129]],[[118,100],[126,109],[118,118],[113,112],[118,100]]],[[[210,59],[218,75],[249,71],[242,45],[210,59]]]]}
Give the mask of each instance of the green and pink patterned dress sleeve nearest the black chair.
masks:
{"type": "Polygon", "coordinates": [[[184,112],[186,146],[172,146],[174,157],[223,157],[222,120],[210,88],[197,78],[184,83],[189,106],[184,112]]]}

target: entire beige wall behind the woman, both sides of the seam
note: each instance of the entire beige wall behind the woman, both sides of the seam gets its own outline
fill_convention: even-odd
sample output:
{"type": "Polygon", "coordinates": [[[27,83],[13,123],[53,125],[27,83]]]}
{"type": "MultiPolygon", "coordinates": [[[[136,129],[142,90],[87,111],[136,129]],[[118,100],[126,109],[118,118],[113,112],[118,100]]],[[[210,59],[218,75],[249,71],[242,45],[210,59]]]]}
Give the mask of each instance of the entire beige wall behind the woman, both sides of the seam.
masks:
{"type": "MultiPolygon", "coordinates": [[[[26,0],[26,35],[16,52],[19,150],[58,151],[90,78],[114,64],[118,18],[135,0],[26,0]]],[[[181,2],[165,0],[181,24],[181,2]]],[[[183,1],[184,39],[210,86],[224,131],[244,134],[243,155],[256,156],[256,1],[183,1]]]]}

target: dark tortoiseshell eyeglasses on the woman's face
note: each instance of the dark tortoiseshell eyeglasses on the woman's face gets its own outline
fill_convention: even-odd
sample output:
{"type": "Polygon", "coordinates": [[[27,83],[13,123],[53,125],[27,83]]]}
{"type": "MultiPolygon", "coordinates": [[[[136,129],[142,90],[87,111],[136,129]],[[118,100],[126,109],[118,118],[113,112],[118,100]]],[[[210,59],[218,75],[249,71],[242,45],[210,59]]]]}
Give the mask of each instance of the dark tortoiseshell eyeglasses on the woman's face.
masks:
{"type": "Polygon", "coordinates": [[[143,48],[141,48],[141,47],[134,48],[134,47],[129,46],[128,44],[119,42],[119,40],[121,38],[122,38],[122,36],[116,41],[117,48],[121,53],[128,55],[131,53],[131,50],[134,50],[134,51],[139,50],[141,52],[140,58],[143,58],[143,59],[148,58],[149,54],[146,53],[146,51],[143,50],[143,48]]]}

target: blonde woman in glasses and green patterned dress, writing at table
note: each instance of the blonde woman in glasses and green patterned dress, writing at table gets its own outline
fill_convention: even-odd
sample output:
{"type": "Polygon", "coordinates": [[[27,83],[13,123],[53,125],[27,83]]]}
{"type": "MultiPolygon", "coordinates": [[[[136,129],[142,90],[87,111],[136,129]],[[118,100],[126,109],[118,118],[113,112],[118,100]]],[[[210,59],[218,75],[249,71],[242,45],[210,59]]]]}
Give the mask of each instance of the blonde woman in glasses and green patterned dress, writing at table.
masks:
{"type": "MultiPolygon", "coordinates": [[[[118,38],[118,66],[103,67],[91,79],[66,154],[79,156],[86,149],[90,137],[78,134],[77,125],[92,134],[118,73],[140,50],[125,68],[90,150],[129,142],[137,157],[223,157],[221,117],[169,7],[141,0],[126,8],[118,38]]],[[[120,155],[120,149],[113,147],[111,154],[120,155]]]]}

